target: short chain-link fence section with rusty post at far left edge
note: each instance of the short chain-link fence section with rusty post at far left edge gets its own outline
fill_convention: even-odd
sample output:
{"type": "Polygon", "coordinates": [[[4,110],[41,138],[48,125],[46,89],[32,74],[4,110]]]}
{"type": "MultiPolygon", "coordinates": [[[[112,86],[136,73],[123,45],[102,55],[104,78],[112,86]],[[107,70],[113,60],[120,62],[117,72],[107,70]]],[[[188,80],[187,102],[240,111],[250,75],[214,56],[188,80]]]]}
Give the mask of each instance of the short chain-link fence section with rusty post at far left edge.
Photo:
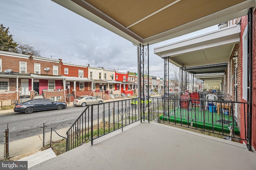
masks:
{"type": "Polygon", "coordinates": [[[0,160],[9,156],[9,124],[5,130],[0,131],[0,160]]]}

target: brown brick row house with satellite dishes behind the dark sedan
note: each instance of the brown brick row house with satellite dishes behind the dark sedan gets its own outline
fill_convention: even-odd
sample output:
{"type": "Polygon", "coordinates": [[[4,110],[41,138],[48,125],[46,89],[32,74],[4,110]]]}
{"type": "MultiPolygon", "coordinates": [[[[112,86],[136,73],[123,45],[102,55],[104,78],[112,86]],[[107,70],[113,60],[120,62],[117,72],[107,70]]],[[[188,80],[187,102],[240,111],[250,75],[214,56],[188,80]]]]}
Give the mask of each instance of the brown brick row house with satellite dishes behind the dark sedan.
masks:
{"type": "Polygon", "coordinates": [[[0,100],[10,102],[42,94],[62,100],[64,78],[60,76],[61,59],[47,59],[0,51],[0,100]],[[46,94],[44,91],[51,91],[46,94]]]}

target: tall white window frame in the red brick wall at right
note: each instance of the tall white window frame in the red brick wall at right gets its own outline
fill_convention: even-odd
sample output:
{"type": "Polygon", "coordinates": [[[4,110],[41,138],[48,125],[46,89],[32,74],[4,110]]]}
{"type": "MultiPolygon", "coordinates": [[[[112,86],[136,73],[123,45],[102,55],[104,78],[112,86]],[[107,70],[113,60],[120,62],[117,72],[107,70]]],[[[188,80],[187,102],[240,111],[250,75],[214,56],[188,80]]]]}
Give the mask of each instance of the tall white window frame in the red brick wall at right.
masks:
{"type": "Polygon", "coordinates": [[[248,52],[248,25],[244,28],[244,33],[242,36],[242,83],[243,83],[243,91],[242,98],[247,101],[247,81],[248,81],[248,66],[247,66],[247,52],[248,52]]]}

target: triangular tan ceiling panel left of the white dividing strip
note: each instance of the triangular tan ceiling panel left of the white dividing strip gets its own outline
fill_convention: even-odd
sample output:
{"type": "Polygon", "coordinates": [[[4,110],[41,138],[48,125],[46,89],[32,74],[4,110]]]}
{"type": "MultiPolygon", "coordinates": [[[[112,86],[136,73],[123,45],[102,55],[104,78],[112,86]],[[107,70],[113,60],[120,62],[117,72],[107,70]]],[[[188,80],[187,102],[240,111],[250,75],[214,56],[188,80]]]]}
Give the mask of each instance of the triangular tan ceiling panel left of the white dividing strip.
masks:
{"type": "Polygon", "coordinates": [[[85,0],[125,27],[141,20],[175,0],[85,0]]]}

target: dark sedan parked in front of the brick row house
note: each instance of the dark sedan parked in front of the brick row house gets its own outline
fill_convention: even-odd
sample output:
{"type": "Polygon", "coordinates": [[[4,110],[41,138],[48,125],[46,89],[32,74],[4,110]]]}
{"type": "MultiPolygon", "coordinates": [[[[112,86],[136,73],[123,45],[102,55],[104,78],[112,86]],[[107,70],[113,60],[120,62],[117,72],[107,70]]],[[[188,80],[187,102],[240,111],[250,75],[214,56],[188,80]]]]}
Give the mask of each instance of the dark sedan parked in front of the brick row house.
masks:
{"type": "Polygon", "coordinates": [[[48,99],[33,99],[26,102],[15,104],[15,112],[25,112],[27,114],[33,113],[34,111],[52,110],[52,109],[63,109],[66,108],[66,102],[54,102],[48,99]]]}

